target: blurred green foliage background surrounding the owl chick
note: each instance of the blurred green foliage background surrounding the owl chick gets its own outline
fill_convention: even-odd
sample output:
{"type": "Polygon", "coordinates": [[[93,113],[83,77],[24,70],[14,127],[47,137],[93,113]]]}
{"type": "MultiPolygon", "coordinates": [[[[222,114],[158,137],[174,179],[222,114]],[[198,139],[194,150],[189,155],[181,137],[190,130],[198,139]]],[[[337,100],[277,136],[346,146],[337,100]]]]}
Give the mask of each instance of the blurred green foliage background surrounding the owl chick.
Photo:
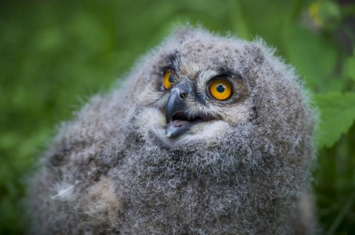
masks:
{"type": "Polygon", "coordinates": [[[187,20],[260,35],[304,77],[322,119],[316,214],[325,233],[355,234],[354,16],[345,0],[1,1],[0,234],[28,226],[23,180],[55,124],[187,20]]]}

